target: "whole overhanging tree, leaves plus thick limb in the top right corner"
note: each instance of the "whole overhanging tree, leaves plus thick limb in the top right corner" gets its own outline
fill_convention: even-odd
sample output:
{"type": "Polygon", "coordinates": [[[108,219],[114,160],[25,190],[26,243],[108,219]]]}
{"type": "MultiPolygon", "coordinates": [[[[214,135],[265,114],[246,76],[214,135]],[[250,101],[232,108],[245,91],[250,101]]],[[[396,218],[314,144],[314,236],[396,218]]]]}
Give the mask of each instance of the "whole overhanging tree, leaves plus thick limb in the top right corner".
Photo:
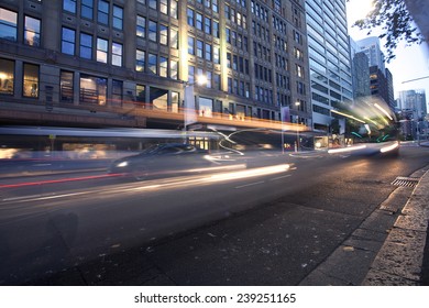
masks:
{"type": "Polygon", "coordinates": [[[428,19],[425,13],[429,10],[428,2],[427,0],[373,0],[373,10],[365,19],[358,20],[354,25],[367,29],[369,35],[374,29],[384,31],[378,37],[386,40],[384,46],[387,50],[386,59],[389,62],[395,58],[394,52],[400,41],[405,41],[407,45],[421,44],[426,41],[425,37],[429,37],[428,19]]]}

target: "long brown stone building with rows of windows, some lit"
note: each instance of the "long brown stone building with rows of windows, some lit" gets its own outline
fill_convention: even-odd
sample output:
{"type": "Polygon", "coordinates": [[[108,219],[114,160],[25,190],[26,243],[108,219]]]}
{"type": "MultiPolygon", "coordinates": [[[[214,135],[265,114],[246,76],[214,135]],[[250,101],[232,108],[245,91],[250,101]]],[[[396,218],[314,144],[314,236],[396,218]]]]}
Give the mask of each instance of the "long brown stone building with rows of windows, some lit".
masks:
{"type": "Polygon", "coordinates": [[[307,50],[304,0],[6,0],[0,119],[176,128],[205,75],[200,117],[309,124],[307,50]]]}

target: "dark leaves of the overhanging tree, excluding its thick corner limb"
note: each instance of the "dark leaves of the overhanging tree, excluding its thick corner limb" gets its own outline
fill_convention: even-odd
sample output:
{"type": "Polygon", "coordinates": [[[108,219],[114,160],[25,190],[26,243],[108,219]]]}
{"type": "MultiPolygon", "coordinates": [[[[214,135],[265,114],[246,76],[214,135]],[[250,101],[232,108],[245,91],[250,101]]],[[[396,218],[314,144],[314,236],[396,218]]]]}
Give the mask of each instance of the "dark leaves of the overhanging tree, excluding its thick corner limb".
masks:
{"type": "Polygon", "coordinates": [[[369,35],[375,29],[383,31],[378,37],[385,40],[387,62],[395,58],[395,50],[400,41],[405,41],[407,45],[421,44],[425,41],[406,6],[406,0],[373,0],[373,10],[354,25],[369,30],[369,35]]]}

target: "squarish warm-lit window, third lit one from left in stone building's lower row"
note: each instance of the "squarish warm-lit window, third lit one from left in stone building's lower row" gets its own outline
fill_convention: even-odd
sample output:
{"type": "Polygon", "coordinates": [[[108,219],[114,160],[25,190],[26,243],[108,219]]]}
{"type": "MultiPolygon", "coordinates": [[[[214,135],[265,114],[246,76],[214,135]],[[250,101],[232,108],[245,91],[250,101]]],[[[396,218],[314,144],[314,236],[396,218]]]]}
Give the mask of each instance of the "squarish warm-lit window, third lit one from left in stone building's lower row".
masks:
{"type": "Polygon", "coordinates": [[[107,79],[80,74],[79,99],[84,103],[106,105],[107,79]]]}

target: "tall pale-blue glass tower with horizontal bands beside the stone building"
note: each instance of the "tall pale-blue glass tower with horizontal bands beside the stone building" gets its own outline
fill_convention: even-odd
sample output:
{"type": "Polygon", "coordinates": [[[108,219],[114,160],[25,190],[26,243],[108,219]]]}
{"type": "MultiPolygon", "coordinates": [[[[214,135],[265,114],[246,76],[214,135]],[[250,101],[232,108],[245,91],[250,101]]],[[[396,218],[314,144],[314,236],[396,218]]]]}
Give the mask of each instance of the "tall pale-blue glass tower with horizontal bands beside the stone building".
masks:
{"type": "Polygon", "coordinates": [[[345,0],[306,0],[314,129],[328,131],[331,110],[353,99],[345,0]]]}

